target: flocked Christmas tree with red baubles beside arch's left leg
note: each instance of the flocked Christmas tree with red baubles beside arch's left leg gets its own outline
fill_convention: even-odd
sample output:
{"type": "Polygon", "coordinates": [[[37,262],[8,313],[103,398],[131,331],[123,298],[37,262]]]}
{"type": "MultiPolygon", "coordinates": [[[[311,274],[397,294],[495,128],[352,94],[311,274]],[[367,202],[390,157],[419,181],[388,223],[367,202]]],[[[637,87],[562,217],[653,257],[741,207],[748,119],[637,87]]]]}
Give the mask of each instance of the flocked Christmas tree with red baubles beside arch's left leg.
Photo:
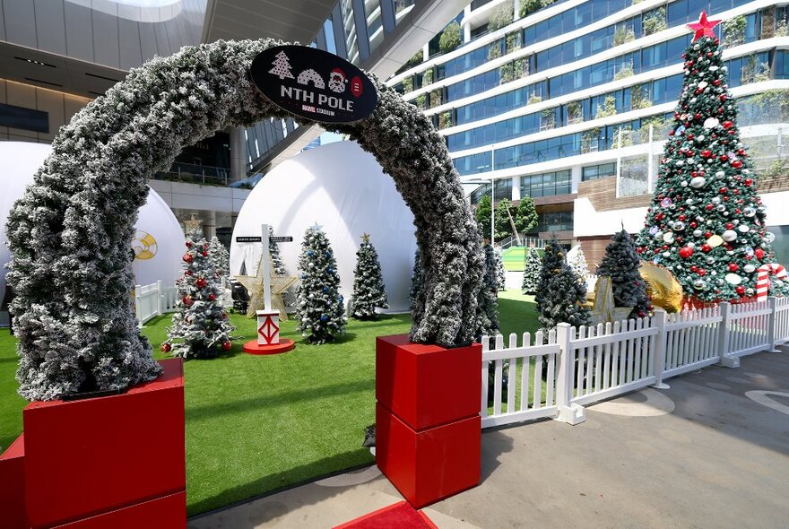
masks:
{"type": "Polygon", "coordinates": [[[219,273],[213,267],[209,244],[199,230],[186,234],[184,275],[178,279],[177,311],[161,351],[180,358],[213,358],[230,351],[233,325],[221,306],[219,273]]]}

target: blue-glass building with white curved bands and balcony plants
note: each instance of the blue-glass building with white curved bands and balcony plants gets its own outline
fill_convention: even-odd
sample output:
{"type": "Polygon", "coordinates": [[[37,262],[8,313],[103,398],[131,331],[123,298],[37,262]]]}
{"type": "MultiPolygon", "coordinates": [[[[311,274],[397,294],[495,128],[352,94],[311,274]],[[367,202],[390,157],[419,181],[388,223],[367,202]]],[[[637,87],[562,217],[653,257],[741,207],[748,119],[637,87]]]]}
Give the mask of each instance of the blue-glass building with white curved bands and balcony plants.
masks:
{"type": "MultiPolygon", "coordinates": [[[[584,182],[615,178],[613,199],[648,199],[681,91],[686,24],[702,10],[724,21],[715,31],[743,137],[758,166],[774,167],[789,109],[786,4],[475,0],[457,19],[456,47],[445,37],[389,83],[433,120],[464,180],[492,178],[497,201],[531,196],[541,237],[569,241],[584,182]]],[[[485,193],[490,184],[472,203],[485,193]]]]}

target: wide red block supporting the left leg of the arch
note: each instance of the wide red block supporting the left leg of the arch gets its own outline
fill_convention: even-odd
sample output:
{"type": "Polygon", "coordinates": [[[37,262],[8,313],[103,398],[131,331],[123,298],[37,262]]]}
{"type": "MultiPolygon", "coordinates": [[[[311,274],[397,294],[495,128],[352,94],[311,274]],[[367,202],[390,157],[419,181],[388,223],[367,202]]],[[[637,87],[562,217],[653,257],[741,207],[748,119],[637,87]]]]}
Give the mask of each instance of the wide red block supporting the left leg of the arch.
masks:
{"type": "Polygon", "coordinates": [[[30,527],[186,527],[183,365],[160,364],[123,395],[24,409],[30,527]]]}

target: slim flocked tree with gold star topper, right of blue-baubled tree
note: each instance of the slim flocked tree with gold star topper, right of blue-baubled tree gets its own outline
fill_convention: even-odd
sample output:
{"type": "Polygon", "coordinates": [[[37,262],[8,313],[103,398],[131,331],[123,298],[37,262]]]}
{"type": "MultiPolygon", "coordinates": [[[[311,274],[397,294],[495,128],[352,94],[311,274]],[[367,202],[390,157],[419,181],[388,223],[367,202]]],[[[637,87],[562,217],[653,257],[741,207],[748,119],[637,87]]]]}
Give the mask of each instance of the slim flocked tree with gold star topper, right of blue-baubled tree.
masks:
{"type": "Polygon", "coordinates": [[[356,252],[356,268],[353,271],[353,294],[348,305],[348,313],[358,319],[374,319],[376,307],[389,308],[386,301],[386,287],[378,262],[376,248],[369,241],[369,235],[361,236],[361,245],[356,252]]]}

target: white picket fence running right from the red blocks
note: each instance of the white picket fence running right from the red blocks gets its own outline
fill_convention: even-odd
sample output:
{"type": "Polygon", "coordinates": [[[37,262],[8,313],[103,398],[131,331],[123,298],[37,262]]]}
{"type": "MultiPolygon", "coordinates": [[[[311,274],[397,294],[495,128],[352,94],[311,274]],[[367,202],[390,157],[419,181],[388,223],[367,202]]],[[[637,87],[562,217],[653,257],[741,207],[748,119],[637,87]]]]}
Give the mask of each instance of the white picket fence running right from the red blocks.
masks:
{"type": "Polygon", "coordinates": [[[584,406],[789,342],[789,299],[686,310],[596,326],[559,324],[546,337],[482,336],[482,428],[551,417],[577,424],[584,406]],[[491,348],[491,340],[495,340],[491,348]],[[533,368],[532,368],[533,366],[533,368]],[[546,377],[542,377],[543,369],[546,377]]]}

